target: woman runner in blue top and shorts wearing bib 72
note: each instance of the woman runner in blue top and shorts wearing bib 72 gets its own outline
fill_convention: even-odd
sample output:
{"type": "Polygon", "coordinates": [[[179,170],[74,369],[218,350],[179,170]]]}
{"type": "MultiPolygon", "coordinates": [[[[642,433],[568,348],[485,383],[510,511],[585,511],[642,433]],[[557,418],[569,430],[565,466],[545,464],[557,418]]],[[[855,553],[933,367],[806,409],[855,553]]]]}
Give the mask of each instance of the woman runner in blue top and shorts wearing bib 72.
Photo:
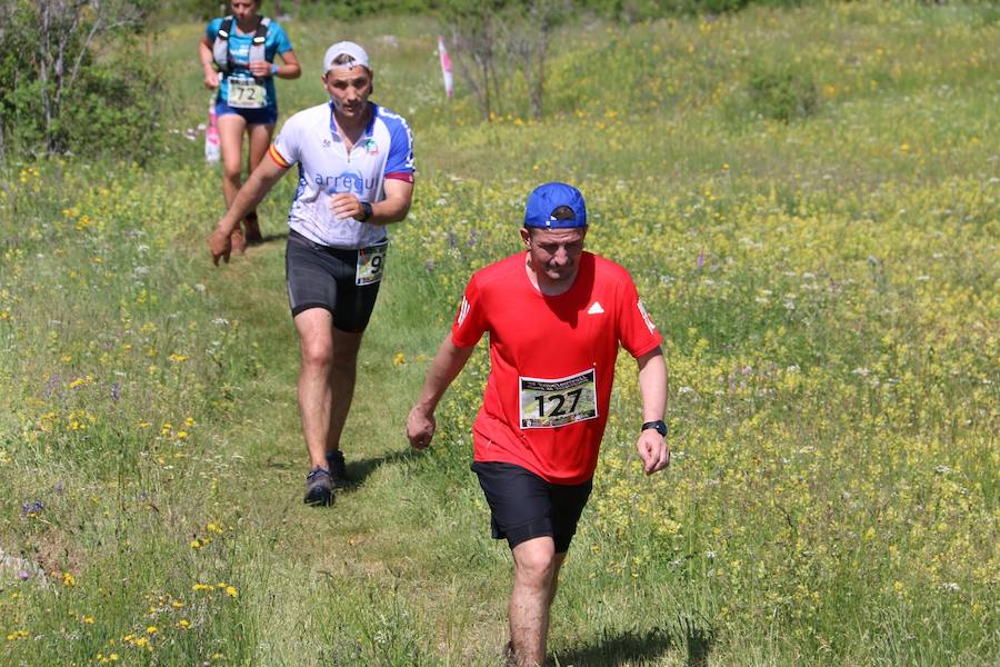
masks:
{"type": "MultiPolygon", "coordinates": [[[[209,21],[198,46],[204,86],[218,90],[216,116],[222,150],[222,195],[229,207],[240,189],[243,132],[250,140],[249,170],[260,163],[278,122],[274,77],[298,79],[302,73],[291,41],[277,22],[260,16],[261,0],[230,0],[232,13],[209,21]],[[274,56],[281,64],[274,63],[274,56]]],[[[232,247],[263,240],[257,211],[250,211],[232,232],[232,247]]]]}

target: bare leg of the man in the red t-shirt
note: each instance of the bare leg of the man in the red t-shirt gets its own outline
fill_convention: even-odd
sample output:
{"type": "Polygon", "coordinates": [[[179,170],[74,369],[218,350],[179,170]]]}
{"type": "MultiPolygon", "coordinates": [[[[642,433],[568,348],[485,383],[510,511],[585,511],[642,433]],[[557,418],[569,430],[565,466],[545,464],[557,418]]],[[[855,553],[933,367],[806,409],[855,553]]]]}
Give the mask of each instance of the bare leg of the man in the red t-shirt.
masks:
{"type": "Polygon", "coordinates": [[[559,568],[566,552],[557,554],[551,537],[537,537],[513,548],[514,585],[510,596],[510,637],[519,667],[546,664],[549,607],[556,598],[559,568]]]}

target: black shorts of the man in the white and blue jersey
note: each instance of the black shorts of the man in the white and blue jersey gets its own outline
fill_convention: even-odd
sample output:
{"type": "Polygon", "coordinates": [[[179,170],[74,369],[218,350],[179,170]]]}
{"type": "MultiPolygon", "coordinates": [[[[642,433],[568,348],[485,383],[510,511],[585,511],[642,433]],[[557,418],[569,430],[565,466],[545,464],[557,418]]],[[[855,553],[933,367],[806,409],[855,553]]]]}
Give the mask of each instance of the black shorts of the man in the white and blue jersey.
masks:
{"type": "Polygon", "coordinates": [[[313,243],[297,231],[288,232],[284,251],[284,279],[292,317],[310,308],[326,308],[333,315],[333,326],[341,331],[360,332],[368,326],[379,295],[386,246],[362,250],[343,250],[313,243]],[[359,257],[362,263],[381,252],[373,280],[358,285],[359,257]]]}

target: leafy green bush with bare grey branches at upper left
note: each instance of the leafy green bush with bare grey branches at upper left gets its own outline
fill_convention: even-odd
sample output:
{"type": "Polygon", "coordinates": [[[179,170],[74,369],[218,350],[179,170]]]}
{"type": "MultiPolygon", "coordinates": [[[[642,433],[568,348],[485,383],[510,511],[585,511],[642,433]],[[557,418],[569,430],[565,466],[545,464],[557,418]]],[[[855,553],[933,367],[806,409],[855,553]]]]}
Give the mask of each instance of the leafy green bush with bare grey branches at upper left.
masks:
{"type": "Polygon", "coordinates": [[[148,4],[4,0],[0,155],[158,152],[162,96],[133,39],[148,4]]]}

